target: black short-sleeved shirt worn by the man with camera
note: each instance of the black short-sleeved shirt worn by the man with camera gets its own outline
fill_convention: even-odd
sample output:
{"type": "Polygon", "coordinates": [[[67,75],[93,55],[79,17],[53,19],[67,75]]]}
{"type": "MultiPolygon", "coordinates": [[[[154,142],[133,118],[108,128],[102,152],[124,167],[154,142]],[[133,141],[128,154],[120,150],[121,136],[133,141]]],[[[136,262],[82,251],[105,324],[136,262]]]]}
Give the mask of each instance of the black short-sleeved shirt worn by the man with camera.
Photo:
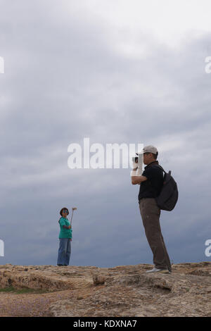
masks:
{"type": "Polygon", "coordinates": [[[160,194],[163,185],[162,170],[155,166],[158,161],[153,161],[146,165],[142,175],[147,177],[145,182],[141,182],[139,189],[139,202],[142,198],[155,198],[160,194]]]}

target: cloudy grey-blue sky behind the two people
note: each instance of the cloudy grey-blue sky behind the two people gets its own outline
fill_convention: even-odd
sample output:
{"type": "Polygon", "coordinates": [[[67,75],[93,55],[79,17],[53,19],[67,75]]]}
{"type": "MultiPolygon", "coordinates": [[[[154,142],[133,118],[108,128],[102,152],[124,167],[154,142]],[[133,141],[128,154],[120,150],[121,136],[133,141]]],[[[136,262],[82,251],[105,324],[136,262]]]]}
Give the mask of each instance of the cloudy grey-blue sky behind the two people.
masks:
{"type": "Polygon", "coordinates": [[[75,266],[153,263],[128,169],[70,169],[68,146],[153,144],[179,187],[162,235],[174,263],[210,226],[210,1],[0,1],[0,264],[56,264],[60,208],[75,266]]]}

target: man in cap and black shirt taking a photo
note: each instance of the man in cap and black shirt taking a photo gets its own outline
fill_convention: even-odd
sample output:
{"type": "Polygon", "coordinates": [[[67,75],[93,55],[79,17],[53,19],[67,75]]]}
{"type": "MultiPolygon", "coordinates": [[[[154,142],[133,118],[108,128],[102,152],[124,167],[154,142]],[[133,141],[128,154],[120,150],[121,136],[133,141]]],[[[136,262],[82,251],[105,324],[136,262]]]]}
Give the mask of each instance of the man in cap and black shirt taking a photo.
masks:
{"type": "Polygon", "coordinates": [[[150,145],[143,148],[143,163],[146,164],[146,167],[141,176],[136,175],[138,167],[134,168],[132,184],[140,185],[139,208],[146,238],[153,251],[154,268],[146,273],[157,273],[162,270],[168,270],[171,273],[170,258],[160,229],[160,208],[155,200],[163,185],[162,170],[156,166],[159,164],[157,157],[158,149],[155,146],[150,145]]]}

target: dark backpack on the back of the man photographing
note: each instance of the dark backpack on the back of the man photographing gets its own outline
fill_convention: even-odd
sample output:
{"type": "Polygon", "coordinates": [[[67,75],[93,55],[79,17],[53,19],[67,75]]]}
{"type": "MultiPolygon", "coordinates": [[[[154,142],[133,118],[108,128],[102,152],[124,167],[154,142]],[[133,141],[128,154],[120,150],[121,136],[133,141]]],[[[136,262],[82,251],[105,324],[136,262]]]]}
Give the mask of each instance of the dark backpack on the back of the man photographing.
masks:
{"type": "Polygon", "coordinates": [[[166,173],[161,165],[153,165],[154,167],[159,167],[165,173],[163,178],[163,185],[159,196],[155,198],[158,207],[163,211],[172,211],[177,204],[178,200],[178,189],[177,182],[171,175],[171,170],[166,173]]]}

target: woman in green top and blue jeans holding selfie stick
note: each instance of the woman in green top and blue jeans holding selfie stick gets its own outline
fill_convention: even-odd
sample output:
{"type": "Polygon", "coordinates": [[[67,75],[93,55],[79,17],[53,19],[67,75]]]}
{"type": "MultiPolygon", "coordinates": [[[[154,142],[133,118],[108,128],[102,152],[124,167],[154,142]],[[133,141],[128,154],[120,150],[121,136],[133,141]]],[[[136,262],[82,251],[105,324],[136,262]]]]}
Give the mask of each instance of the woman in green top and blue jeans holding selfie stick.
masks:
{"type": "Polygon", "coordinates": [[[60,219],[58,221],[60,225],[59,233],[59,249],[57,266],[68,266],[70,262],[71,242],[72,242],[72,228],[67,218],[69,215],[68,208],[62,208],[60,210],[60,219]]]}

